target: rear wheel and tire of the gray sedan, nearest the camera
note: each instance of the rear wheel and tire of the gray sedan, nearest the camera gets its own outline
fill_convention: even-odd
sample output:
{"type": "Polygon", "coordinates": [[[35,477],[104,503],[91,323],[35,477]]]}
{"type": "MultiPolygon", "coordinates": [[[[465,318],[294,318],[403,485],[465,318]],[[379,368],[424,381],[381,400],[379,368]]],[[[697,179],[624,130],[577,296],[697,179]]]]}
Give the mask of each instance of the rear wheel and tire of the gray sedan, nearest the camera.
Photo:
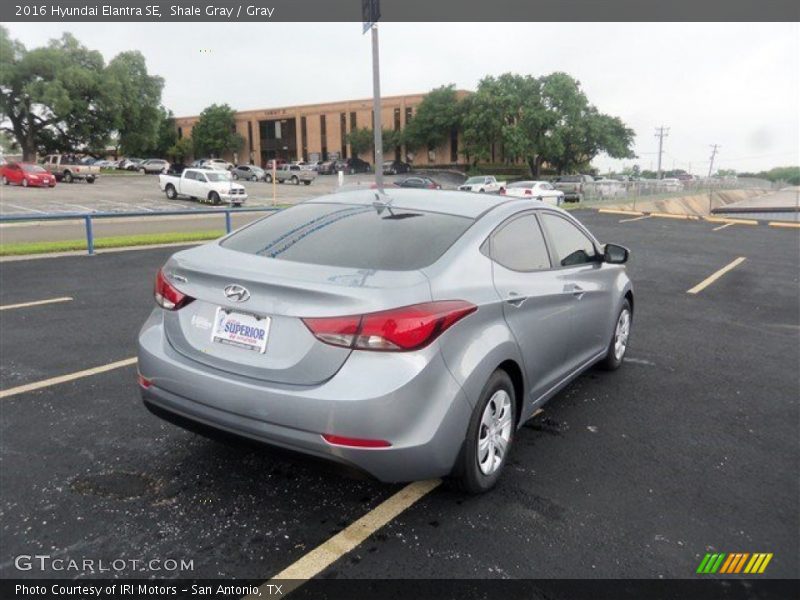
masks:
{"type": "Polygon", "coordinates": [[[516,407],[517,399],[511,377],[505,371],[498,369],[489,377],[489,381],[486,382],[481,392],[480,400],[475,405],[464,445],[453,470],[453,482],[460,490],[469,494],[482,494],[492,489],[500,479],[500,474],[508,462],[509,453],[514,445],[516,407]],[[505,451],[502,456],[499,456],[496,451],[497,446],[489,443],[487,452],[483,455],[485,464],[481,466],[481,452],[478,446],[481,439],[490,439],[490,432],[487,430],[486,424],[487,421],[493,421],[492,414],[495,409],[499,412],[497,424],[502,423],[499,435],[495,439],[506,440],[505,451]],[[489,463],[490,454],[494,457],[494,461],[499,462],[489,463]]]}

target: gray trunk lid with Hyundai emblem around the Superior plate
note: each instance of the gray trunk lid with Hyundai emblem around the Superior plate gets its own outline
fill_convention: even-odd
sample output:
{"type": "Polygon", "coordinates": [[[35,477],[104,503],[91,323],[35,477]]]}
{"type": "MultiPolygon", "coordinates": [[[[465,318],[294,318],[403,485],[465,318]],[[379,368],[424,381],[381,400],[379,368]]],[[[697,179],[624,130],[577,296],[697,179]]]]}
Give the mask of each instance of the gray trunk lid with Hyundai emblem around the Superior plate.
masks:
{"type": "Polygon", "coordinates": [[[218,244],[174,255],[167,280],[195,298],[164,312],[167,339],[184,356],[236,375],[281,384],[314,385],[331,378],[351,350],[320,342],[302,317],[355,315],[431,299],[420,271],[378,271],[312,265],[229,250],[218,244]],[[249,293],[245,301],[225,294],[230,285],[249,293]],[[218,309],[266,324],[264,352],[214,341],[218,309]]]}

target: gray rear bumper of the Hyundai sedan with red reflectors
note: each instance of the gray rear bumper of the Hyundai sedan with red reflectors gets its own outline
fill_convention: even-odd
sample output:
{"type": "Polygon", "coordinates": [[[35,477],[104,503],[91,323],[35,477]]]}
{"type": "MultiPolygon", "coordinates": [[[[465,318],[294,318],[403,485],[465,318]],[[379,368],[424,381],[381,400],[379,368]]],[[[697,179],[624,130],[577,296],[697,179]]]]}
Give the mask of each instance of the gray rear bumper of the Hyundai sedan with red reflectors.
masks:
{"type": "Polygon", "coordinates": [[[413,353],[354,352],[322,384],[281,385],[180,355],[161,322],[156,309],[139,338],[139,372],[152,382],[142,399],[159,416],[344,463],[382,481],[452,471],[471,408],[435,343],[413,353]],[[322,434],[391,446],[336,446],[322,434]]]}

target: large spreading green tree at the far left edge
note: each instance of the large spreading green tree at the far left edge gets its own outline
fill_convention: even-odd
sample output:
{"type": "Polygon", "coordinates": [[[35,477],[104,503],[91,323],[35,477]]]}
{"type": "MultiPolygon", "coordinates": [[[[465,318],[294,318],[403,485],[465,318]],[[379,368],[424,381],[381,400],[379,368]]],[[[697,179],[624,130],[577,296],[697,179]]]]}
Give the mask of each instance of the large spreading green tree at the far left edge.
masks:
{"type": "Polygon", "coordinates": [[[0,27],[0,122],[22,148],[99,153],[115,128],[119,93],[102,55],[71,34],[27,50],[0,27]]]}

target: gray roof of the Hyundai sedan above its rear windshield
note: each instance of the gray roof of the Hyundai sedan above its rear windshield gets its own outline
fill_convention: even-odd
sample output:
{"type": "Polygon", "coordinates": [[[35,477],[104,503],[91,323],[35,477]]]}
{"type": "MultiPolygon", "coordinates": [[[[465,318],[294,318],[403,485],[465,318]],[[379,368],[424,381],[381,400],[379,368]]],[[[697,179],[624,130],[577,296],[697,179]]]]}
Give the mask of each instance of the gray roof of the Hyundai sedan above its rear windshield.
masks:
{"type": "MultiPolygon", "coordinates": [[[[515,199],[516,200],[516,199],[515,199]]],[[[429,210],[452,215],[477,218],[487,210],[509,202],[503,196],[493,194],[468,194],[446,190],[417,190],[408,188],[385,188],[381,194],[376,189],[353,190],[320,196],[309,203],[373,204],[389,202],[399,208],[429,210]]]]}

